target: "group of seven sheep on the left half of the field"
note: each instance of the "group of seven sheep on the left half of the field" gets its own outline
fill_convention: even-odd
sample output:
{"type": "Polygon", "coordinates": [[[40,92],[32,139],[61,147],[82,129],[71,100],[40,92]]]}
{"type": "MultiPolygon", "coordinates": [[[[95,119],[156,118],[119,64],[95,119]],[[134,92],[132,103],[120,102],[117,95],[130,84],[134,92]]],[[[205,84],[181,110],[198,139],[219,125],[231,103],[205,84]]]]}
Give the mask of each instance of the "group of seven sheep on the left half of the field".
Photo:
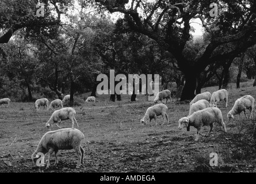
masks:
{"type": "MultiPolygon", "coordinates": [[[[59,110],[55,110],[53,114],[51,114],[51,117],[46,122],[46,127],[49,128],[52,124],[56,124],[58,128],[57,131],[49,131],[46,132],[42,139],[39,141],[38,147],[36,148],[35,152],[32,154],[31,159],[35,163],[36,160],[39,158],[39,153],[42,154],[49,154],[48,162],[46,168],[49,168],[50,166],[50,158],[51,154],[55,154],[55,164],[58,163],[57,153],[58,150],[72,150],[74,149],[76,151],[78,160],[77,160],[77,166],[76,168],[80,168],[80,165],[83,164],[83,158],[84,158],[84,150],[81,147],[81,143],[84,140],[84,134],[79,131],[79,129],[74,128],[74,122],[76,122],[77,128],[79,125],[77,124],[75,114],[76,111],[73,108],[63,108],[63,104],[66,101],[69,101],[70,95],[65,95],[65,97],[62,99],[55,99],[51,102],[49,105],[49,100],[47,98],[41,98],[37,99],[35,102],[35,109],[39,110],[40,106],[43,106],[44,108],[47,108],[47,110],[55,110],[55,108],[61,108],[59,110]],[[70,119],[72,122],[72,128],[62,128],[60,127],[60,123],[62,120],[68,120],[70,119]]],[[[95,97],[88,97],[85,102],[95,102],[95,97]]],[[[6,107],[10,105],[10,99],[9,98],[3,98],[0,99],[0,105],[1,104],[8,104],[6,107]]],[[[44,164],[44,163],[42,163],[44,164]]],[[[54,165],[55,165],[54,164],[54,165]]]]}

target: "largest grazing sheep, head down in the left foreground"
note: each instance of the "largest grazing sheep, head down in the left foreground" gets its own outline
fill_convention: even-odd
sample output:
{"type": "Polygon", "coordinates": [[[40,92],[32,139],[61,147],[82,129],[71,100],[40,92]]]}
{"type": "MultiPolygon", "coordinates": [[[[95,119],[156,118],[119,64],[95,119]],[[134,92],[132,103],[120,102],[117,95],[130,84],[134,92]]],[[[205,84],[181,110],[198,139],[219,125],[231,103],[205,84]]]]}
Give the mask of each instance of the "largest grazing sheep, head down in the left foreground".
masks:
{"type": "Polygon", "coordinates": [[[58,150],[72,150],[76,151],[78,160],[76,168],[80,168],[83,164],[84,149],[81,147],[81,143],[84,140],[84,134],[75,128],[64,128],[57,131],[46,132],[40,140],[36,151],[32,154],[31,159],[36,163],[38,153],[46,154],[48,152],[48,163],[46,168],[50,166],[51,154],[55,154],[55,163],[58,164],[57,153],[58,150]]]}

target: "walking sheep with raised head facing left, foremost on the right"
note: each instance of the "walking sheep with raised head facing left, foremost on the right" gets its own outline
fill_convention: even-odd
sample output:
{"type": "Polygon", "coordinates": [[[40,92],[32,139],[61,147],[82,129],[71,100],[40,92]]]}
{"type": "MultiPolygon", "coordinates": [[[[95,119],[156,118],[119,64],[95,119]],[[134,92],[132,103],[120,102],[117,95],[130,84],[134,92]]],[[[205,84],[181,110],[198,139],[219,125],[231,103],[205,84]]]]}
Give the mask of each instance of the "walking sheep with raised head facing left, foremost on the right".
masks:
{"type": "Polygon", "coordinates": [[[188,117],[180,118],[178,128],[182,129],[186,127],[187,131],[190,131],[190,126],[195,127],[197,129],[195,141],[198,141],[201,128],[205,125],[210,125],[210,131],[206,135],[208,136],[213,130],[213,122],[218,122],[218,124],[224,128],[224,131],[227,132],[221,110],[218,108],[206,108],[203,110],[198,110],[188,117]]]}

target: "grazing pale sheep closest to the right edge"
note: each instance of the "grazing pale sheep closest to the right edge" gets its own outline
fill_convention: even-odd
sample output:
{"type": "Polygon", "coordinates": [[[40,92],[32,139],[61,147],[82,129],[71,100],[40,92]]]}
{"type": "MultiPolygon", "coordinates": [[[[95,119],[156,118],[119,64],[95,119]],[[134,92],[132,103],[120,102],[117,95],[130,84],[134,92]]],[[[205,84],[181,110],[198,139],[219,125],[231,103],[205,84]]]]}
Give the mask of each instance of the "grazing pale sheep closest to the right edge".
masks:
{"type": "Polygon", "coordinates": [[[244,115],[246,115],[246,109],[249,109],[251,112],[250,118],[253,118],[253,108],[254,108],[254,101],[255,99],[251,95],[245,95],[235,101],[235,104],[233,108],[228,112],[227,117],[229,120],[231,118],[234,118],[234,115],[238,114],[238,120],[239,120],[239,114],[241,112],[244,112],[244,115]]]}

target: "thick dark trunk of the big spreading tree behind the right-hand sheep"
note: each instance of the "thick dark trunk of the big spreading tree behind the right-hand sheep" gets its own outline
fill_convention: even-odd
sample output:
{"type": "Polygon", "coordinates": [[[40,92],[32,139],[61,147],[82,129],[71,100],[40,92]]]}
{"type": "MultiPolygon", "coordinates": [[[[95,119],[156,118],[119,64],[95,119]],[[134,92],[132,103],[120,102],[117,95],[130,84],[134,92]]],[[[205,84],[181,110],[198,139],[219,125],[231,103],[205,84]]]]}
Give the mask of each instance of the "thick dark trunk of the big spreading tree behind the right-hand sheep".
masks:
{"type": "Polygon", "coordinates": [[[193,72],[185,73],[185,85],[181,93],[180,101],[184,101],[185,99],[193,99],[195,97],[195,88],[196,74],[193,72]]]}

